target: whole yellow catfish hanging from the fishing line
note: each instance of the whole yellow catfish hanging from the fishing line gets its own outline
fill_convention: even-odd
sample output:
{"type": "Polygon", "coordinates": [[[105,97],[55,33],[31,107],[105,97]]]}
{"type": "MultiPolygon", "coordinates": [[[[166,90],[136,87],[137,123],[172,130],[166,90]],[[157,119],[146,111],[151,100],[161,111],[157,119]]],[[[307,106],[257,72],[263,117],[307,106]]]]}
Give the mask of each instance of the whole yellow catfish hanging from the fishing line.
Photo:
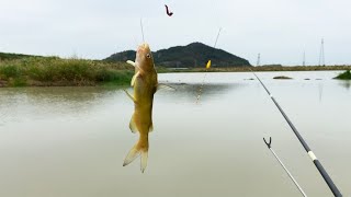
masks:
{"type": "Polygon", "coordinates": [[[149,141],[149,132],[152,131],[152,102],[154,94],[157,91],[157,72],[155,70],[154,59],[149,45],[141,44],[136,51],[135,62],[128,60],[128,63],[135,67],[135,74],[132,79],[134,86],[134,95],[128,92],[127,95],[134,102],[134,114],[132,116],[129,128],[132,132],[139,132],[138,142],[131,149],[124,160],[123,166],[133,162],[139,154],[140,170],[145,171],[147,165],[149,141]]]}

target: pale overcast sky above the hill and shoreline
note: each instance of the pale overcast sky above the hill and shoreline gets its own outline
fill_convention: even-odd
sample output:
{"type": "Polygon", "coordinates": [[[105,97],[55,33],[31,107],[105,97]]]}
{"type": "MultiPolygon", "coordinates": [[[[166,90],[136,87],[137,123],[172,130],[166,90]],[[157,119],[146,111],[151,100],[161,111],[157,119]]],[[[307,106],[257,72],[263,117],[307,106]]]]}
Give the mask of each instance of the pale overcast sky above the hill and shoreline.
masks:
{"type": "Polygon", "coordinates": [[[350,0],[0,0],[0,51],[102,59],[202,42],[256,63],[351,63],[350,0]],[[169,18],[165,3],[174,12],[169,18]]]}

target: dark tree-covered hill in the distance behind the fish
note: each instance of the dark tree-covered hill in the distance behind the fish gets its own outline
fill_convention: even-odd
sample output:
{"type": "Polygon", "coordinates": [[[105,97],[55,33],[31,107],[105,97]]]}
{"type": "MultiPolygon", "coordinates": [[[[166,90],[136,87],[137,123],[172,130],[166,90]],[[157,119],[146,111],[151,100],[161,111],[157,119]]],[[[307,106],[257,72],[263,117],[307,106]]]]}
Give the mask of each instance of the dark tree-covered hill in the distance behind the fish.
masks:
{"type": "MultiPolygon", "coordinates": [[[[125,50],[113,54],[105,61],[126,61],[135,59],[135,50],[125,50]]],[[[202,43],[192,43],[186,46],[176,46],[152,53],[156,65],[169,68],[204,67],[208,59],[213,67],[242,67],[250,66],[244,58],[222,49],[215,49],[202,43]]]]}

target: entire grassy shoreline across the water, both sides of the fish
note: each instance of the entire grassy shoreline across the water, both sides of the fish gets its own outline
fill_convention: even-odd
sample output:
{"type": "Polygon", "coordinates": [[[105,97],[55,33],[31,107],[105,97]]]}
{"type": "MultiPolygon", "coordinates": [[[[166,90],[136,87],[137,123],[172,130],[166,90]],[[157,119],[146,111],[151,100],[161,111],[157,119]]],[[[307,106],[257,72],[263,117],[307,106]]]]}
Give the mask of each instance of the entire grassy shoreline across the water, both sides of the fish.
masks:
{"type": "MultiPolygon", "coordinates": [[[[170,72],[250,72],[252,71],[327,71],[351,70],[351,66],[240,66],[231,68],[165,68],[156,65],[158,73],[170,72]]],[[[134,68],[126,62],[29,57],[0,60],[0,88],[8,86],[94,86],[128,85],[134,68]]]]}

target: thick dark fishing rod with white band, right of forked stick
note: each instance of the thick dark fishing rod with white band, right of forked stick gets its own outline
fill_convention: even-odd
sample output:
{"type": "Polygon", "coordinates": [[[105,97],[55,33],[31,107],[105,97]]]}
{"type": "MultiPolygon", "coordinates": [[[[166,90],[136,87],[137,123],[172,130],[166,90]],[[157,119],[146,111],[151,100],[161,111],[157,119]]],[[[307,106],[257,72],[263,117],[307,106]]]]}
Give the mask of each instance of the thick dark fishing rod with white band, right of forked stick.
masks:
{"type": "Polygon", "coordinates": [[[292,130],[294,131],[295,136],[297,137],[298,141],[302,143],[302,146],[304,147],[304,149],[306,150],[307,154],[309,155],[309,158],[312,159],[312,161],[314,162],[315,166],[317,167],[317,170],[319,171],[320,175],[322,176],[322,178],[325,179],[325,182],[327,183],[327,185],[329,186],[330,190],[332,192],[332,194],[335,196],[342,196],[341,193],[339,192],[338,187],[333,184],[332,179],[330,178],[330,176],[328,175],[327,171],[325,170],[325,167],[321,165],[321,163],[319,162],[319,160],[317,159],[317,157],[315,155],[315,153],[310,150],[310,148],[308,147],[308,144],[306,143],[306,141],[304,140],[304,138],[299,135],[299,132],[297,131],[296,127],[294,126],[294,124],[288,119],[287,115],[285,114],[285,112],[282,109],[282,107],[278,104],[278,102],[275,101],[275,99],[273,97],[273,95],[271,94],[271,92],[267,89],[267,86],[263,84],[263,82],[260,80],[260,78],[253,72],[253,70],[251,68],[249,68],[250,71],[254,74],[254,77],[259,80],[259,82],[261,83],[261,85],[264,88],[265,92],[269,94],[269,96],[271,97],[271,100],[273,101],[273,103],[275,104],[275,106],[278,107],[278,109],[280,111],[280,113],[283,115],[283,117],[285,118],[286,123],[288,124],[288,126],[292,128],[292,130]]]}

